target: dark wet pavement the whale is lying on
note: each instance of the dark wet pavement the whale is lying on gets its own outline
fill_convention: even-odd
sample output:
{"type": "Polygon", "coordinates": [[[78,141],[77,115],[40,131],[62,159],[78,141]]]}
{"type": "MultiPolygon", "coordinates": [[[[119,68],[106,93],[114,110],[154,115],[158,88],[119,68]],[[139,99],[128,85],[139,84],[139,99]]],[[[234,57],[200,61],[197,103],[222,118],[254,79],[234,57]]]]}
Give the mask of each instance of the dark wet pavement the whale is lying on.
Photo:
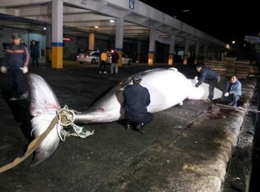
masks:
{"type": "MultiPolygon", "coordinates": [[[[129,75],[151,69],[133,64],[110,75],[99,74],[96,65],[67,62],[62,70],[42,66],[30,72],[49,83],[61,106],[77,111],[86,110],[129,75]]],[[[169,66],[152,68],[161,67],[169,66]]],[[[188,78],[195,74],[193,65],[175,67],[188,78]]],[[[0,74],[0,80],[2,166],[23,155],[31,139],[31,117],[28,101],[5,100],[6,75],[0,74]]],[[[242,83],[251,85],[253,80],[242,83]]],[[[125,130],[121,122],[89,125],[93,136],[66,138],[45,162],[30,167],[30,157],[0,174],[0,191],[219,191],[244,117],[227,107],[185,100],[183,106],[155,113],[144,135],[125,130]]]]}

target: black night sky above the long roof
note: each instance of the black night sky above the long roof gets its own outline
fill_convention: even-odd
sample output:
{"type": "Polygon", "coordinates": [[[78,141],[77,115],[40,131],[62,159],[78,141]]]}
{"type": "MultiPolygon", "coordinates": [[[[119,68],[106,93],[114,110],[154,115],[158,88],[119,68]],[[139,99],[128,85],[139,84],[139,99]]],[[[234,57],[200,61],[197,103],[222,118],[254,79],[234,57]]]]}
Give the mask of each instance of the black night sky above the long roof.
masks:
{"type": "Polygon", "coordinates": [[[260,33],[260,8],[255,2],[183,1],[182,3],[178,1],[176,5],[174,5],[175,1],[171,1],[173,5],[169,5],[170,0],[156,2],[141,0],[141,2],[168,15],[176,15],[178,20],[227,44],[231,44],[232,41],[243,44],[245,35],[255,36],[260,33]],[[190,11],[182,12],[183,10],[190,11]]]}

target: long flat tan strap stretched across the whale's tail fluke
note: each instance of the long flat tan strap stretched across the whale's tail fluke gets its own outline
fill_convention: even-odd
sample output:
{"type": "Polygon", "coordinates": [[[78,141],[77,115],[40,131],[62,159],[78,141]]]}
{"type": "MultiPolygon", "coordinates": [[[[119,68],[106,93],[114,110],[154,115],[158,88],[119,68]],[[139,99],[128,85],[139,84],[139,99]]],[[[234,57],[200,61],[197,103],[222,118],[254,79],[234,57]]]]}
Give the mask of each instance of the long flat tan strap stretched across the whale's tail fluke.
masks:
{"type": "Polygon", "coordinates": [[[10,168],[15,167],[22,161],[24,161],[27,157],[35,151],[35,149],[39,146],[39,144],[42,143],[42,141],[46,138],[46,136],[49,134],[49,132],[55,127],[55,124],[58,122],[58,116],[55,116],[53,120],[51,121],[49,127],[44,131],[44,133],[38,137],[36,137],[34,140],[31,141],[31,143],[27,147],[27,151],[25,152],[23,157],[17,157],[13,162],[8,163],[7,165],[4,165],[3,167],[0,167],[0,173],[4,172],[10,168]]]}

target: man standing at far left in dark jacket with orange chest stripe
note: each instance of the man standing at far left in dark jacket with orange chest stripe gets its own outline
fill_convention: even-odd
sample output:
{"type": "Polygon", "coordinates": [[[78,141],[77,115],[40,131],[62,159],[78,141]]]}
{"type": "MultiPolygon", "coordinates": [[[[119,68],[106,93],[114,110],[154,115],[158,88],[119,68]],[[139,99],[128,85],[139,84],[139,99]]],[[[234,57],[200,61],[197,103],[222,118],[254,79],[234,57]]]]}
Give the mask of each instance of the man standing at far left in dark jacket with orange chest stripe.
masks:
{"type": "Polygon", "coordinates": [[[1,66],[1,72],[7,73],[8,71],[8,80],[12,93],[10,101],[28,97],[24,76],[24,73],[28,72],[28,64],[28,49],[21,45],[21,36],[15,33],[12,35],[12,44],[6,49],[4,64],[1,66]]]}

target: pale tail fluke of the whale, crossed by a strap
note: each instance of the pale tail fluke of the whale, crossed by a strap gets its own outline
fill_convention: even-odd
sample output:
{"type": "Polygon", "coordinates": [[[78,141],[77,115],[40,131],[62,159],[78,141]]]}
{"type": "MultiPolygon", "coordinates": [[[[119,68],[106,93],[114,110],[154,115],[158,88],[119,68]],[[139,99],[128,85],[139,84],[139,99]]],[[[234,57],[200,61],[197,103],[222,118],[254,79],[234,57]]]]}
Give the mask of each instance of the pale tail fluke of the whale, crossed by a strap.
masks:
{"type": "MultiPolygon", "coordinates": [[[[61,108],[58,100],[48,83],[36,74],[28,75],[30,86],[31,103],[30,113],[34,118],[31,120],[31,127],[34,138],[41,135],[50,125],[56,116],[56,111],[61,108]]],[[[59,144],[58,132],[62,126],[55,125],[34,153],[32,166],[43,162],[57,149],[59,144]]]]}

